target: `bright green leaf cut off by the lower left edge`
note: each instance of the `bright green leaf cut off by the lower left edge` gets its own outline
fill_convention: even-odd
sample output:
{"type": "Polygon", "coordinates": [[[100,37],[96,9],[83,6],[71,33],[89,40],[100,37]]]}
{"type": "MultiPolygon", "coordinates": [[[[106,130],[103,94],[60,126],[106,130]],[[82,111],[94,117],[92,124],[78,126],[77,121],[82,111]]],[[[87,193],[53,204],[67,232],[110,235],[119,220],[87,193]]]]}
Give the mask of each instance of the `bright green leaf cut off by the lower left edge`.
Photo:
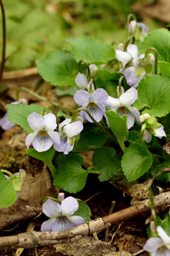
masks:
{"type": "Polygon", "coordinates": [[[17,192],[0,170],[0,207],[11,206],[17,199],[17,192]]]}

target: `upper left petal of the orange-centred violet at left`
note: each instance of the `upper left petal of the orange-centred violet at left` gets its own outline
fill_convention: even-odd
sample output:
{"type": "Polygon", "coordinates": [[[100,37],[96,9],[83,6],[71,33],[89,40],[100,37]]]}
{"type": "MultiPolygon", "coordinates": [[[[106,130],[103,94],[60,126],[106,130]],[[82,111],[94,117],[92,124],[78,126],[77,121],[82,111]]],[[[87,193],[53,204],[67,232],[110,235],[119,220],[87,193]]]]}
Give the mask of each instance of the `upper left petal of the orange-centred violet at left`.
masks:
{"type": "Polygon", "coordinates": [[[36,112],[31,113],[27,118],[28,124],[33,129],[33,131],[38,132],[43,130],[45,126],[45,120],[42,115],[37,114],[36,112]]]}

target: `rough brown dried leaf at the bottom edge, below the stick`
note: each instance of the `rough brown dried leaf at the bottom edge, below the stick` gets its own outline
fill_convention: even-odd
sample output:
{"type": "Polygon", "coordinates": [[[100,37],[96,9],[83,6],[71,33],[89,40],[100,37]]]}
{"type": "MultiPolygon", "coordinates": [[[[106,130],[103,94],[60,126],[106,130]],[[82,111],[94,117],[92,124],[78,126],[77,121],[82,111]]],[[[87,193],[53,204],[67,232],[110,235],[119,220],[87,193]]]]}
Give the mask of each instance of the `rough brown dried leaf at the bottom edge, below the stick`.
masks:
{"type": "Polygon", "coordinates": [[[130,256],[129,252],[115,252],[115,248],[110,243],[95,240],[92,237],[85,237],[71,244],[56,244],[56,252],[68,256],[130,256]]]}

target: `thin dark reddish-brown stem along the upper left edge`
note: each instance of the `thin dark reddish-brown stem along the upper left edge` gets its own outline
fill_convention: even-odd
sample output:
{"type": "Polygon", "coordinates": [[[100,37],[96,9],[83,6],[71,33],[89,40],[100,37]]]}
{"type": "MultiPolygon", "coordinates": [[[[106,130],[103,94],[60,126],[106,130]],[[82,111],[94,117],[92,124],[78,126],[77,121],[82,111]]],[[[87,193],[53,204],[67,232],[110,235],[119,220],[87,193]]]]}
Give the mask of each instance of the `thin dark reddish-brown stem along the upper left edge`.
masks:
{"type": "Polygon", "coordinates": [[[5,10],[2,0],[0,0],[1,12],[2,12],[2,25],[3,25],[3,47],[2,47],[2,59],[0,69],[0,82],[3,75],[4,63],[5,63],[5,46],[6,46],[6,25],[5,25],[5,10]]]}

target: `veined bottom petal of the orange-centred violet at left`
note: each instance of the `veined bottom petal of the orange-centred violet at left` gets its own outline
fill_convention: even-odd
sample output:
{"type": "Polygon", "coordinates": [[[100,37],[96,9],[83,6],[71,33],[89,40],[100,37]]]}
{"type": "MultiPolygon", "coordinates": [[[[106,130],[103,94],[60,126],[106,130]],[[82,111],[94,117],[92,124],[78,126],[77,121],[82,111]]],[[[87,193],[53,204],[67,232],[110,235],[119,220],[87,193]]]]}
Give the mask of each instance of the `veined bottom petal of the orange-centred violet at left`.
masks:
{"type": "Polygon", "coordinates": [[[37,135],[33,138],[32,145],[38,151],[47,151],[52,146],[53,141],[47,132],[44,136],[41,136],[41,133],[38,132],[37,135]]]}

